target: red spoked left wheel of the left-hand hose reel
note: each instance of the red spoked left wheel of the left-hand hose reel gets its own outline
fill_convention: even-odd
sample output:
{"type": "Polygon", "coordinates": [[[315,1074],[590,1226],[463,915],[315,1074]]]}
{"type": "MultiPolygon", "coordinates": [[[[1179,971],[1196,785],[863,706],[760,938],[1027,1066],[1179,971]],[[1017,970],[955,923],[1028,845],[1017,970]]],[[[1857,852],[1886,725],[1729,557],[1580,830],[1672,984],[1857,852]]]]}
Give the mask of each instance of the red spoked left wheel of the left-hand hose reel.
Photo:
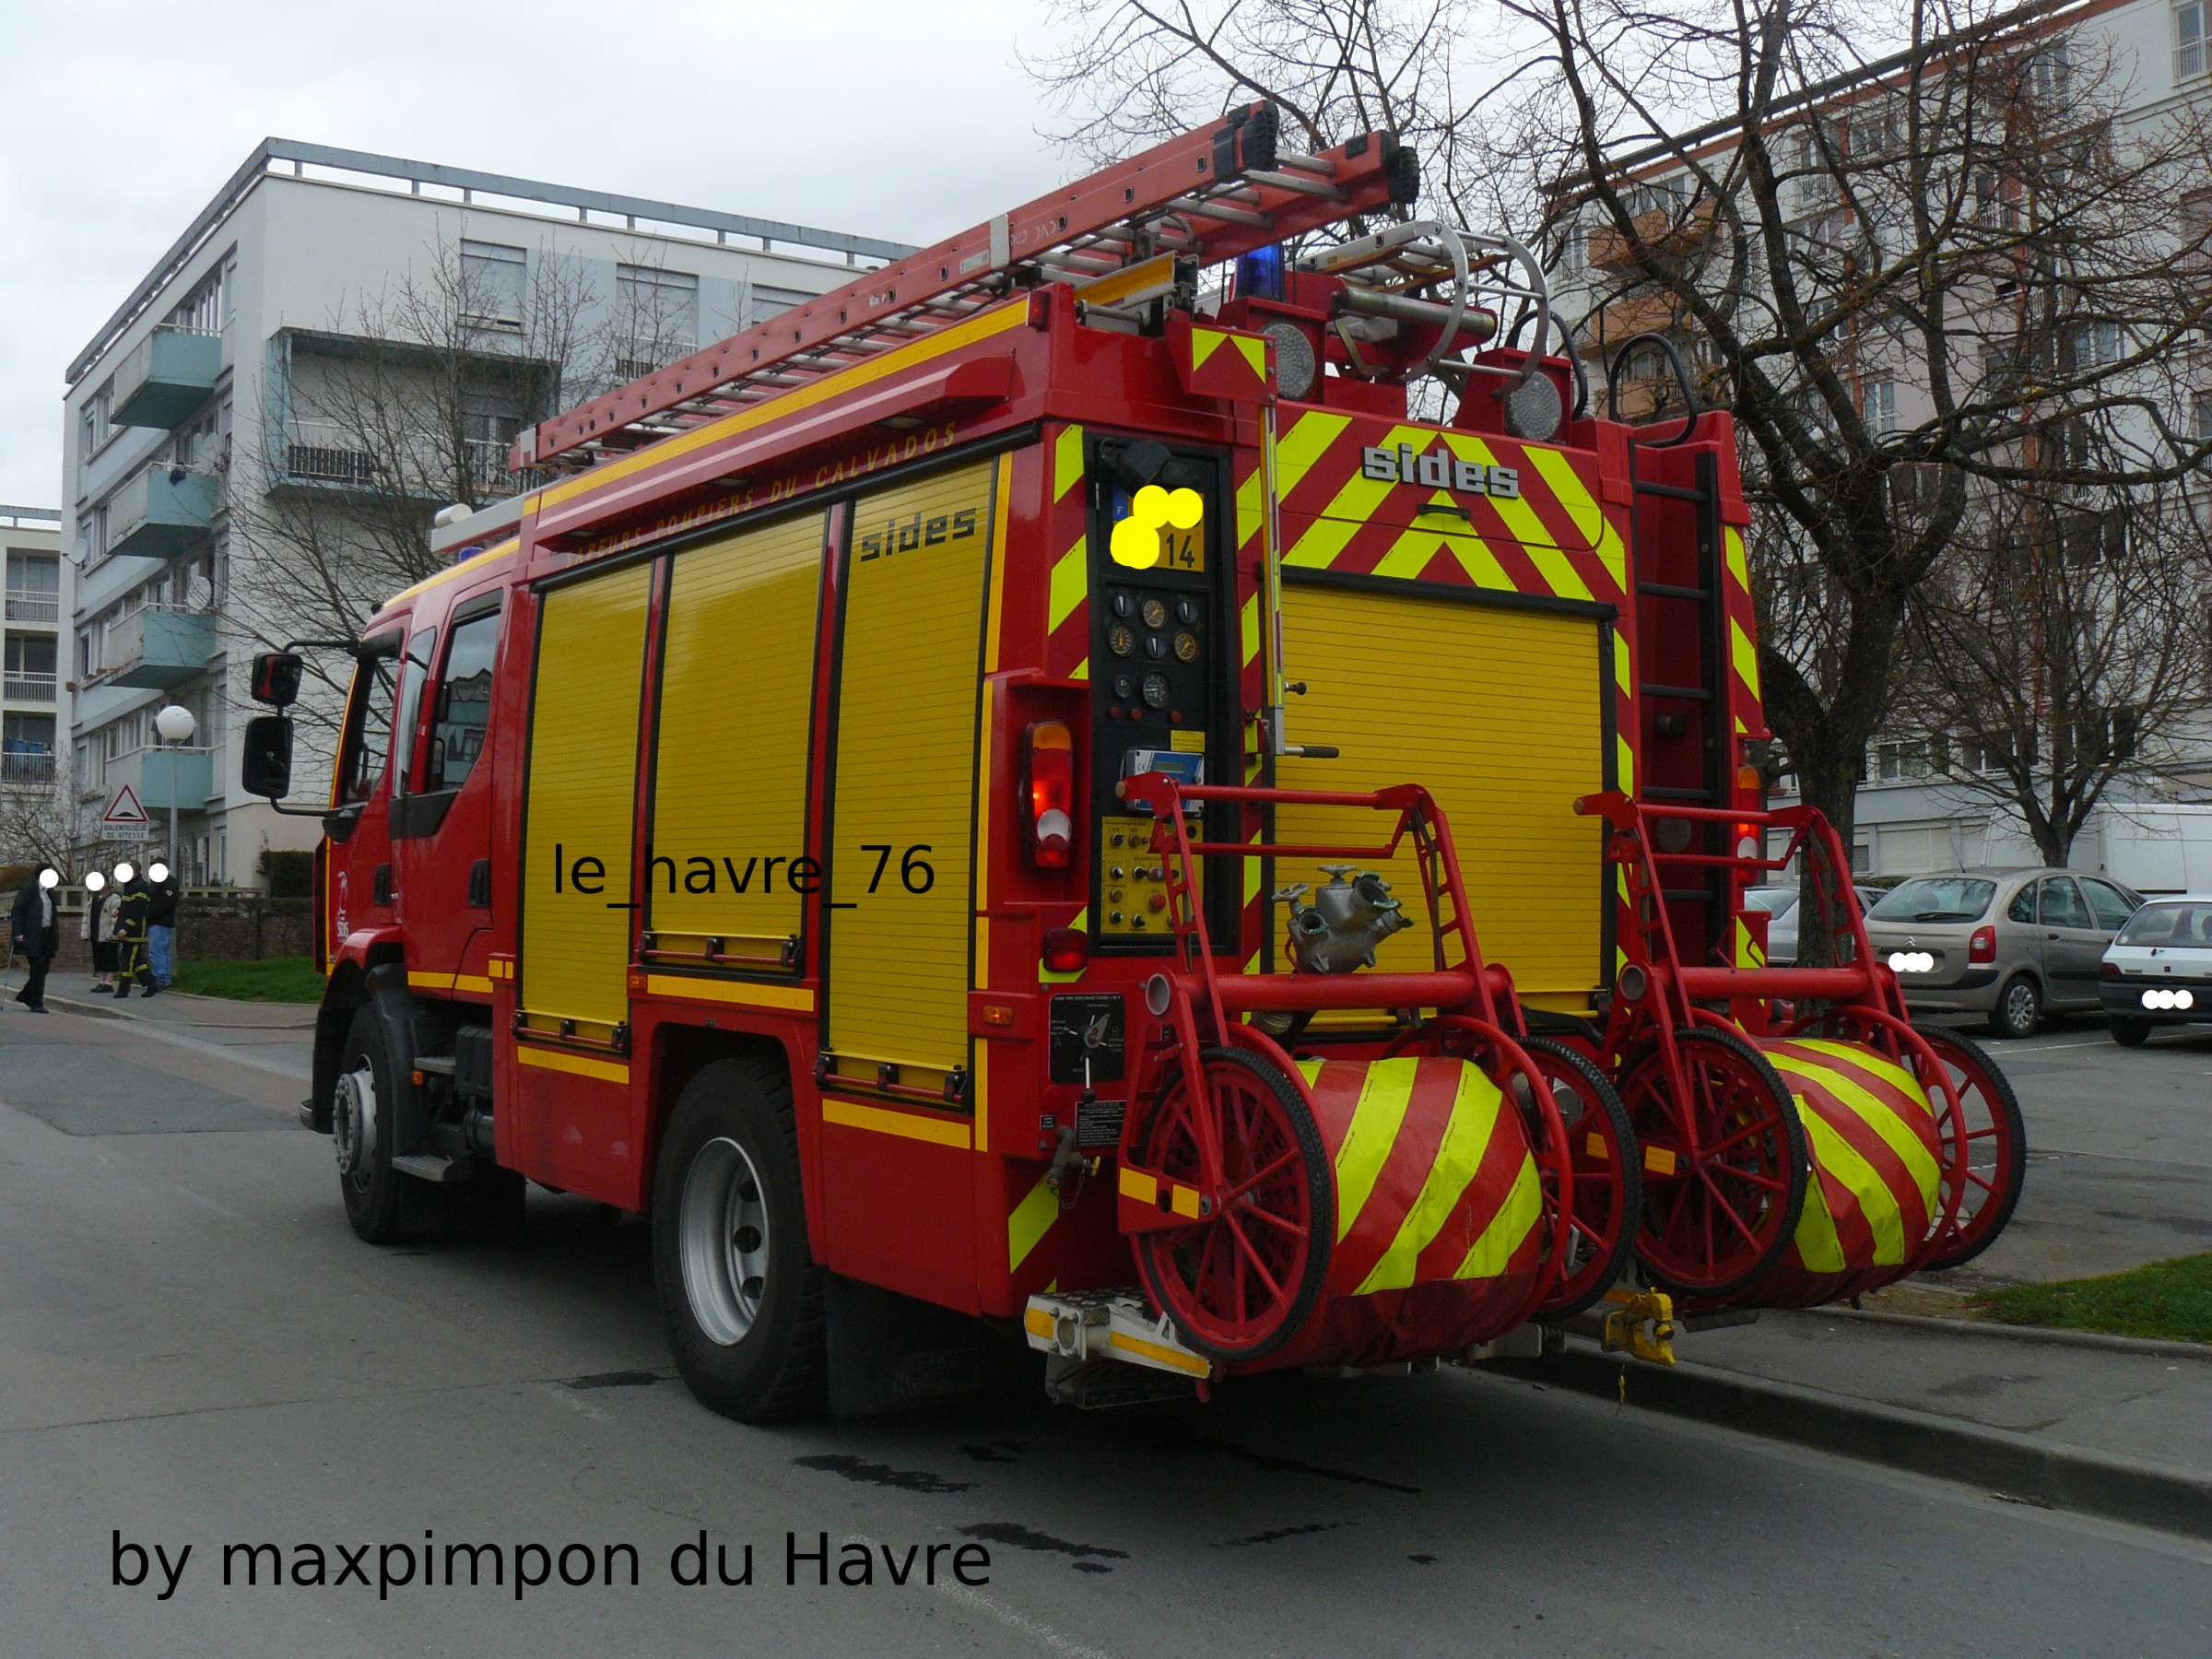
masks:
{"type": "Polygon", "coordinates": [[[1168,1079],[1139,1157],[1210,1199],[1192,1225],[1133,1241],[1146,1290],[1183,1343],[1221,1365],[1287,1343],[1314,1312],[1336,1248],[1329,1155],[1298,1086],[1243,1048],[1206,1048],[1199,1088],[1188,1071],[1168,1079]]]}

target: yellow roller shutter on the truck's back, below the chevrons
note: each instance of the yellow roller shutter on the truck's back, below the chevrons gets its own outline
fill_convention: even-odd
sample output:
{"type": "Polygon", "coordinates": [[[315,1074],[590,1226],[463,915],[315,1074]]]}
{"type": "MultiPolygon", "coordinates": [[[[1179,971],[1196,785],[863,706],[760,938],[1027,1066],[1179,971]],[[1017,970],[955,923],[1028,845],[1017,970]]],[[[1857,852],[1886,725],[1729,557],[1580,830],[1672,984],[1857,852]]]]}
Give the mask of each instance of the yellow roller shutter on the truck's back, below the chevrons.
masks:
{"type": "MultiPolygon", "coordinates": [[[[1413,588],[1292,582],[1283,591],[1283,655],[1290,677],[1307,684],[1292,703],[1294,737],[1336,743],[1343,759],[1285,757],[1276,781],[1292,790],[1425,785],[1451,823],[1484,958],[1559,1006],[1579,1006],[1601,982],[1601,838],[1597,821],[1577,818],[1573,805],[1606,787],[1601,639],[1595,617],[1413,588]]],[[[1385,823],[1374,812],[1285,807],[1276,834],[1374,843],[1385,823]]],[[[1385,940],[1376,967],[1427,969],[1411,852],[1383,876],[1416,927],[1385,940]]],[[[1327,880],[1281,863],[1274,878],[1327,880]]]]}

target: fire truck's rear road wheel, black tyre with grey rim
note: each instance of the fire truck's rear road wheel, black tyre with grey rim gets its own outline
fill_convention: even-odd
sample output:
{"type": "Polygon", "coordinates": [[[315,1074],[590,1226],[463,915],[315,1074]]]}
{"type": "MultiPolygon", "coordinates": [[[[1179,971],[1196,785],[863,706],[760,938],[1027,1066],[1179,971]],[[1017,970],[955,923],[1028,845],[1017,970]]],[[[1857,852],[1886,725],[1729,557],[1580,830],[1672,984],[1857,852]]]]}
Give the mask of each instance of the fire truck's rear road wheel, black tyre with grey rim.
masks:
{"type": "Polygon", "coordinates": [[[825,1407],[825,1279],[807,1248],[790,1077],[765,1060],[717,1060],[677,1099],[653,1177],[661,1323],[703,1407],[739,1422],[825,1407]]]}

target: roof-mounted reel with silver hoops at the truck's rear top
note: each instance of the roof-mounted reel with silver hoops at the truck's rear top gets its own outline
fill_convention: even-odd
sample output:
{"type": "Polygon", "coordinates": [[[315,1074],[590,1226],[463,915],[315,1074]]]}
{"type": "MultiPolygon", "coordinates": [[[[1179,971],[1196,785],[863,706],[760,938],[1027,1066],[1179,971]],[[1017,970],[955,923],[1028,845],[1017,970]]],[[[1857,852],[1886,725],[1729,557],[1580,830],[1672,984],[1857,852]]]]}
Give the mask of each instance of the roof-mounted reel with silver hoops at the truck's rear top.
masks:
{"type": "Polygon", "coordinates": [[[1535,442],[1559,431],[1566,409],[1551,376],[1542,374],[1551,288],[1535,254],[1517,239],[1460,230],[1442,219],[1411,219],[1318,248],[1296,268],[1343,283],[1332,305],[1332,356],[1340,352],[1352,374],[1394,385],[1433,374],[1460,398],[1471,376],[1489,376],[1495,380],[1493,396],[1504,403],[1506,431],[1535,442]],[[1460,361],[1469,345],[1495,341],[1509,312],[1513,327],[1506,338],[1520,338],[1535,319],[1520,358],[1460,361]]]}

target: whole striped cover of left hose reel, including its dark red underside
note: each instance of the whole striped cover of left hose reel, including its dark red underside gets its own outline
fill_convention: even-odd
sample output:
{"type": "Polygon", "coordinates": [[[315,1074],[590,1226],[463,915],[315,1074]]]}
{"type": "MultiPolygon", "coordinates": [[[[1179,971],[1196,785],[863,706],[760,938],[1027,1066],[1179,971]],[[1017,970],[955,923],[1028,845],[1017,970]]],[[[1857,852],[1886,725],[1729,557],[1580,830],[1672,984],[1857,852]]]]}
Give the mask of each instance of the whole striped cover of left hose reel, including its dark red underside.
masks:
{"type": "Polygon", "coordinates": [[[1301,1060],[1336,1179],[1336,1252],[1274,1365],[1387,1365],[1498,1336],[1542,1254],[1528,1135],[1473,1064],[1301,1060]]]}

